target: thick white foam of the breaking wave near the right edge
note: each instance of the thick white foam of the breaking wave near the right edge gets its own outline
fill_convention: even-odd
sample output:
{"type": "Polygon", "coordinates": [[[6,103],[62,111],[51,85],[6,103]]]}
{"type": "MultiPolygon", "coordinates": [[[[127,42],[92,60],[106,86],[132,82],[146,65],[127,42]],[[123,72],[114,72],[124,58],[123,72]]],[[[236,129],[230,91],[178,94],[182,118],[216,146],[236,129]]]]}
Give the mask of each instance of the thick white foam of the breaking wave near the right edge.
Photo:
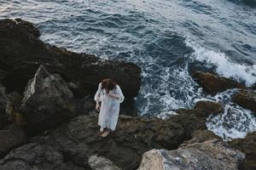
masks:
{"type": "Polygon", "coordinates": [[[185,42],[188,47],[195,50],[192,59],[206,62],[207,66],[215,65],[218,75],[235,78],[239,82],[245,82],[247,86],[256,82],[256,65],[232,62],[226,54],[201,47],[188,37],[185,42]]]}

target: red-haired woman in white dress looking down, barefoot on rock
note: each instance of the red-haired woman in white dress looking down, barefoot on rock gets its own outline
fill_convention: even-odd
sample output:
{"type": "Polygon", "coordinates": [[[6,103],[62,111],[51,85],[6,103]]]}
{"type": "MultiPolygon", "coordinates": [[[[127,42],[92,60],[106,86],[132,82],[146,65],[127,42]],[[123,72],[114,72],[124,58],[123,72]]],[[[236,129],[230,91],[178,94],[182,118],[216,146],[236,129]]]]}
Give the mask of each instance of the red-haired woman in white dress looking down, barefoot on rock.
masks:
{"type": "Polygon", "coordinates": [[[121,88],[110,78],[102,80],[95,94],[96,110],[100,111],[98,125],[102,137],[114,131],[119,118],[119,106],[125,99],[121,88]],[[101,105],[100,105],[101,103],[101,105]]]}

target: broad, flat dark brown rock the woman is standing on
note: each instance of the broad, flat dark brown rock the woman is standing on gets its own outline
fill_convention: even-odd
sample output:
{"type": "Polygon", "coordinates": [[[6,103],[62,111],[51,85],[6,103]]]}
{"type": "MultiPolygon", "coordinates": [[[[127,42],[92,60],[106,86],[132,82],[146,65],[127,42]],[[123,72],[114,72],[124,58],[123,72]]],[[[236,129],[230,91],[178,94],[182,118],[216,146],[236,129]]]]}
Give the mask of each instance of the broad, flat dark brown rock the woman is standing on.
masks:
{"type": "Polygon", "coordinates": [[[49,132],[49,135],[31,141],[58,147],[82,167],[86,167],[84,163],[90,156],[98,155],[108,158],[117,167],[134,170],[145,151],[176,149],[183,142],[183,127],[160,119],[119,116],[115,132],[102,138],[96,115],[78,116],[49,132]]]}

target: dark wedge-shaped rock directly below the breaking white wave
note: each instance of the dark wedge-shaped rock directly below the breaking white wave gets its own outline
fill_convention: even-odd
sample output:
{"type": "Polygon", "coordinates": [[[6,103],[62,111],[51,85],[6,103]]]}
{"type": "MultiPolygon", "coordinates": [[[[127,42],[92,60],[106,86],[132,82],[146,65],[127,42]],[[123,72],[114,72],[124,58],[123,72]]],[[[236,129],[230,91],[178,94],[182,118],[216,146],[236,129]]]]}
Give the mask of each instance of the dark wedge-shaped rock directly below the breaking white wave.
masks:
{"type": "Polygon", "coordinates": [[[245,88],[239,82],[229,78],[218,77],[210,72],[193,71],[192,77],[207,94],[215,95],[230,88],[245,88]]]}

